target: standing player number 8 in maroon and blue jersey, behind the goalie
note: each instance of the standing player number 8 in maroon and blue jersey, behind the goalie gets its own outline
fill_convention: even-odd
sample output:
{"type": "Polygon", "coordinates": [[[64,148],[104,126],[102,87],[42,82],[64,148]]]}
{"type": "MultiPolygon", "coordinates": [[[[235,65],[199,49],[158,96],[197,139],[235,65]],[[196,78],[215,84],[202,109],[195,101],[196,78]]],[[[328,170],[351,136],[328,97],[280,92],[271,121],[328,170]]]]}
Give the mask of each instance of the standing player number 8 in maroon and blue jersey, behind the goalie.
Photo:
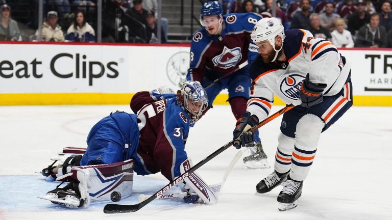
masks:
{"type": "MultiPolygon", "coordinates": [[[[207,87],[215,79],[227,75],[205,88],[209,98],[207,110],[212,107],[220,91],[228,89],[228,101],[235,119],[246,111],[251,86],[249,65],[233,74],[231,72],[244,62],[251,63],[257,55],[257,47],[251,44],[250,33],[259,19],[261,16],[257,13],[223,15],[218,1],[206,2],[202,6],[200,22],[204,27],[192,38],[187,79],[200,81],[203,87],[207,87]]],[[[244,157],[243,162],[248,168],[270,167],[258,132],[255,133],[255,142],[247,147],[250,155],[244,157]]]]}

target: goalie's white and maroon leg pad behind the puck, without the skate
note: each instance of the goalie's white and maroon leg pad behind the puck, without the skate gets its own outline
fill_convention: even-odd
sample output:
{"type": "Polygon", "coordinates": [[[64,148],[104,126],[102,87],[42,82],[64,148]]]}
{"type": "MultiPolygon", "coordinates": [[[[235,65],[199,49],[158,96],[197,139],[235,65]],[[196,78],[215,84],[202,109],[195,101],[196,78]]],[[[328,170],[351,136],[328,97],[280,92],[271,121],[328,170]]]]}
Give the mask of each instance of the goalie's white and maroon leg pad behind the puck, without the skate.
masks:
{"type": "Polygon", "coordinates": [[[110,164],[78,166],[56,180],[77,180],[80,196],[84,201],[83,207],[94,202],[117,202],[132,193],[133,166],[132,159],[110,164]]]}

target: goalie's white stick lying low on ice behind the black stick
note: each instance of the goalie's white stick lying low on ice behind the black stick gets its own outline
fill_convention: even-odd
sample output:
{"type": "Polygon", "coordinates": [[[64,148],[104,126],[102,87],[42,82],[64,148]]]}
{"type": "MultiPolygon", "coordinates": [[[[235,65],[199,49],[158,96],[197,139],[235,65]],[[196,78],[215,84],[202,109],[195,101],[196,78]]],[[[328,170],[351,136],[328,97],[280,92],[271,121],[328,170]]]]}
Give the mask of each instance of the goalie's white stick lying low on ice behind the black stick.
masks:
{"type": "MultiPolygon", "coordinates": [[[[229,166],[227,167],[225,175],[223,175],[222,180],[219,183],[210,185],[210,188],[212,189],[212,191],[214,191],[215,193],[218,193],[218,192],[222,191],[223,185],[225,184],[227,177],[229,176],[229,174],[230,174],[231,170],[233,169],[234,165],[237,163],[238,159],[241,158],[242,154],[243,154],[243,151],[238,151],[235,154],[235,156],[231,160],[229,166]]],[[[142,201],[148,199],[151,196],[152,195],[140,194],[139,195],[139,202],[142,202],[142,201]]],[[[186,196],[188,196],[188,193],[186,193],[186,192],[184,192],[184,193],[173,193],[173,194],[162,194],[160,197],[157,197],[157,199],[170,199],[170,198],[178,198],[178,197],[186,197],[186,196]]]]}

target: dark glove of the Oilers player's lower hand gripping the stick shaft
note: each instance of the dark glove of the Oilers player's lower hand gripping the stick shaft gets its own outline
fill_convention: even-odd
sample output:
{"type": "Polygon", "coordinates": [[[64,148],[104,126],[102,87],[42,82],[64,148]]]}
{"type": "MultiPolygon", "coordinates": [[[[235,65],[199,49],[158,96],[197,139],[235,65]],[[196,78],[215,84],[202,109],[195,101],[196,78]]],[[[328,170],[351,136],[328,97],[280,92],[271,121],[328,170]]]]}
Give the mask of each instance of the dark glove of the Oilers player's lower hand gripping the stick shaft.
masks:
{"type": "Polygon", "coordinates": [[[257,125],[258,122],[257,116],[251,115],[250,112],[246,112],[237,120],[233,131],[233,146],[235,148],[240,149],[241,146],[244,147],[253,142],[253,133],[248,130],[257,125]]]}

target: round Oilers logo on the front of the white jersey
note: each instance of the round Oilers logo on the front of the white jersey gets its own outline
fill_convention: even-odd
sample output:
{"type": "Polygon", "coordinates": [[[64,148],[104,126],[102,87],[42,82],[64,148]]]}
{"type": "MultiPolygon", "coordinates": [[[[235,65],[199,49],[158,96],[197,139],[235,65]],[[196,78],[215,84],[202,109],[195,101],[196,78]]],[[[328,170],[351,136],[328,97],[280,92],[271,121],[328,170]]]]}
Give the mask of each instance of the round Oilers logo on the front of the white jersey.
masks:
{"type": "Polygon", "coordinates": [[[304,79],[305,76],[299,74],[288,75],[281,79],[279,89],[287,98],[297,100],[300,98],[299,92],[304,79]]]}

